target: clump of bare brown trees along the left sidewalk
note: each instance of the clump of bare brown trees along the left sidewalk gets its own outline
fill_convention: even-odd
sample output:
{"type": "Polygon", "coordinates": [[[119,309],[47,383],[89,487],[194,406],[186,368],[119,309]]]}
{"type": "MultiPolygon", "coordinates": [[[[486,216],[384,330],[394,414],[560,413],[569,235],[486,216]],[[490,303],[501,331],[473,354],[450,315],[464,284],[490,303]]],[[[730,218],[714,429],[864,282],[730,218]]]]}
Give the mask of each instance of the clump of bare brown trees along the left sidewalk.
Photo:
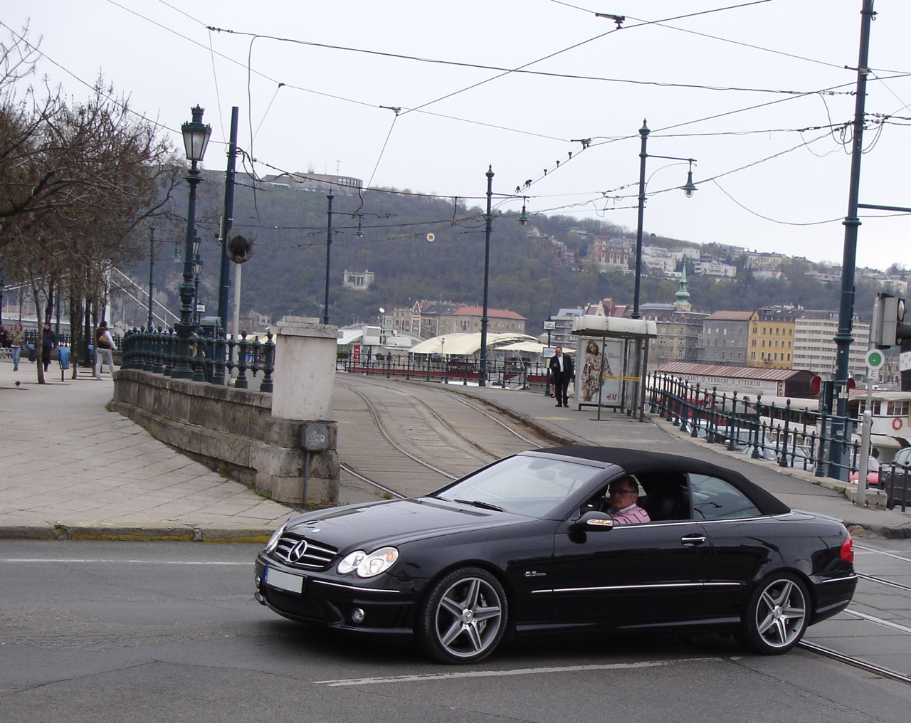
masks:
{"type": "MultiPolygon", "coordinates": [[[[74,351],[82,349],[85,309],[107,302],[112,264],[135,260],[145,247],[139,224],[163,212],[183,163],[167,138],[134,116],[128,98],[98,79],[85,102],[34,88],[17,99],[28,75],[24,37],[3,46],[0,77],[0,260],[25,281],[47,321],[66,289],[74,351]]],[[[75,358],[74,358],[75,362],[75,358]]],[[[76,375],[77,364],[73,365],[76,375]]],[[[38,382],[44,382],[38,365],[38,382]]]]}

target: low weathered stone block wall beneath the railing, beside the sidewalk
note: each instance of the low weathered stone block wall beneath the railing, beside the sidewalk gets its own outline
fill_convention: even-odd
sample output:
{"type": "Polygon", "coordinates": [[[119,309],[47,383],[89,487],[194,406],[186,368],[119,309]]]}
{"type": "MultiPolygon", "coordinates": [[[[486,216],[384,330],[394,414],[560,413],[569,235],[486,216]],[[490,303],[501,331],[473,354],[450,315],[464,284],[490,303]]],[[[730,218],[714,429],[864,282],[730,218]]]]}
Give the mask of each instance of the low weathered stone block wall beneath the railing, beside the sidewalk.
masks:
{"type": "Polygon", "coordinates": [[[337,504],[336,424],[284,419],[271,407],[269,393],[134,369],[116,373],[111,401],[156,439],[273,500],[300,505],[306,488],[307,503],[337,504]],[[309,453],[305,481],[307,448],[322,451],[309,453]]]}

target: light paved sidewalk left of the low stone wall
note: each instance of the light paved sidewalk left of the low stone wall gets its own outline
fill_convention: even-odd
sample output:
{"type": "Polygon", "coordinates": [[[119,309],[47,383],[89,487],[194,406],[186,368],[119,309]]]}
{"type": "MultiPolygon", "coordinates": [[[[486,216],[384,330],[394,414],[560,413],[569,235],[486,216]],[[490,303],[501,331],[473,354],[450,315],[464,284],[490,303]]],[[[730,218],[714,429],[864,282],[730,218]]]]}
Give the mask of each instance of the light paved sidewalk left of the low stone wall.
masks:
{"type": "Polygon", "coordinates": [[[109,374],[70,373],[0,361],[0,538],[265,541],[291,514],[107,412],[109,374]]]}

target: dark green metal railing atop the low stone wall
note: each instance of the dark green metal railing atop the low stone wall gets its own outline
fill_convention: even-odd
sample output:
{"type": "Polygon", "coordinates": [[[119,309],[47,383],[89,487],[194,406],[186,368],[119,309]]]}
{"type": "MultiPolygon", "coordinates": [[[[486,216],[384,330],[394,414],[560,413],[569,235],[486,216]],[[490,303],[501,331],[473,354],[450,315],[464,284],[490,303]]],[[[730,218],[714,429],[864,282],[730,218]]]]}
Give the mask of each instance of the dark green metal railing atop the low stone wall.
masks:
{"type": "Polygon", "coordinates": [[[181,354],[177,332],[170,330],[134,329],[123,338],[121,369],[141,369],[146,372],[174,376],[179,367],[189,367],[195,382],[224,384],[236,373],[234,386],[249,389],[250,374],[261,374],[259,391],[271,392],[272,372],[275,371],[275,342],[271,331],[266,341],[247,339],[247,331],[239,338],[226,336],[219,327],[197,327],[189,339],[189,355],[181,354]]]}

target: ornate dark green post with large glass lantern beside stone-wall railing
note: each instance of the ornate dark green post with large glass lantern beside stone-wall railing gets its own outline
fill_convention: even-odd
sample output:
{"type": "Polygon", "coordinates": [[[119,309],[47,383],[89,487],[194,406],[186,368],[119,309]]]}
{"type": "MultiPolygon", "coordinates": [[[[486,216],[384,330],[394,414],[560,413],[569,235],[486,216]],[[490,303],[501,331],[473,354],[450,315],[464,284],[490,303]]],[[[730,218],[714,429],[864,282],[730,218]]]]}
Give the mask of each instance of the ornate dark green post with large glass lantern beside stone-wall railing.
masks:
{"type": "Polygon", "coordinates": [[[171,376],[177,379],[192,379],[193,370],[189,367],[189,336],[193,332],[193,314],[190,303],[193,295],[193,239],[196,238],[196,187],[200,184],[200,171],[197,168],[200,160],[206,155],[206,146],[212,127],[203,125],[203,109],[199,106],[190,108],[193,119],[180,127],[183,134],[183,145],[190,162],[189,172],[184,177],[189,184],[189,201],[187,203],[187,239],[183,249],[183,280],[180,282],[180,323],[174,326],[178,333],[178,359],[171,376]]]}

